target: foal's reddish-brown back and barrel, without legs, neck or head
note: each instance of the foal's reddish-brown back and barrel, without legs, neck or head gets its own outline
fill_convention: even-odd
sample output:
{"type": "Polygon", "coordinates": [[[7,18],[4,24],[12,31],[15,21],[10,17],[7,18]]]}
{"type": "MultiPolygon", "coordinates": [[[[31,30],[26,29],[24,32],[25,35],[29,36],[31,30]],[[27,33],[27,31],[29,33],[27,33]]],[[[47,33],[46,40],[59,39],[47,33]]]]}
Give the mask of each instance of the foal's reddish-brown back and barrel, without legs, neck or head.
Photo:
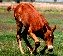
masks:
{"type": "Polygon", "coordinates": [[[33,31],[37,31],[48,24],[45,17],[30,3],[19,4],[14,10],[14,16],[16,20],[21,21],[25,26],[31,27],[33,31]]]}

